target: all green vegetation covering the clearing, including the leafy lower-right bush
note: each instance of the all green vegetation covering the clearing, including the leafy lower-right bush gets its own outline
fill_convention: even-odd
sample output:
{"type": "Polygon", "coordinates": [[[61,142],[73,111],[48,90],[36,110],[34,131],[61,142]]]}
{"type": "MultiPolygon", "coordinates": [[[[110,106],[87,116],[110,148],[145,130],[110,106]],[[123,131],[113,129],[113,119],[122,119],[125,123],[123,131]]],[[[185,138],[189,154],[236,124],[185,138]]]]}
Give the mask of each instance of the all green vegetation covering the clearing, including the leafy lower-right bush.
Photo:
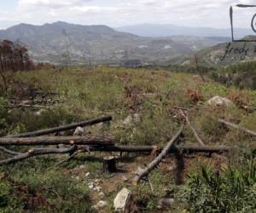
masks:
{"type": "MultiPolygon", "coordinates": [[[[239,89],[233,84],[227,87],[207,77],[206,82],[202,82],[195,73],[143,68],[43,69],[11,73],[8,78],[8,92],[0,99],[1,135],[112,115],[110,126],[88,127],[85,128],[86,133],[114,135],[120,144],[164,146],[181,124],[181,116],[173,108],[178,106],[189,109],[189,120],[207,145],[227,145],[242,152],[255,149],[253,137],[217,121],[224,118],[256,130],[256,112],[245,108],[256,107],[255,90],[239,89]],[[46,95],[33,95],[35,91],[46,95]],[[56,95],[49,95],[49,92],[56,95]],[[208,106],[206,102],[215,95],[229,98],[236,106],[208,106]],[[52,108],[10,107],[20,101],[52,108]],[[129,116],[131,120],[125,122],[129,116]]],[[[72,132],[65,134],[71,135],[72,132]]],[[[196,142],[191,130],[185,128],[181,143],[189,145],[196,142]]],[[[160,212],[255,211],[252,204],[255,197],[255,176],[252,176],[253,172],[255,174],[255,159],[245,157],[249,163],[246,160],[237,162],[237,158],[244,156],[237,150],[229,160],[219,160],[216,156],[207,158],[205,155],[189,158],[172,155],[166,158],[166,162],[150,174],[154,192],[148,182],[134,189],[129,183],[120,181],[118,176],[103,175],[103,156],[102,153],[83,153],[59,167],[54,165],[64,156],[31,158],[1,167],[0,212],[93,212],[91,206],[98,202],[98,198],[95,192],[88,191],[90,178],[85,176],[87,172],[93,174],[94,179],[103,179],[102,185],[110,205],[119,189],[130,187],[145,212],[157,212],[157,201],[166,196],[164,189],[167,187],[173,191],[175,204],[160,212]],[[201,164],[204,165],[202,169],[201,164]],[[205,164],[212,164],[212,167],[205,164]],[[228,168],[219,169],[219,176],[213,172],[217,164],[228,168]],[[232,205],[235,195],[238,204],[232,205]]],[[[129,179],[134,176],[132,172],[137,170],[138,164],[143,166],[151,159],[148,156],[125,157],[128,162],[121,164],[125,164],[125,175],[129,179]]],[[[6,155],[1,153],[1,158],[6,158],[6,155]]]]}

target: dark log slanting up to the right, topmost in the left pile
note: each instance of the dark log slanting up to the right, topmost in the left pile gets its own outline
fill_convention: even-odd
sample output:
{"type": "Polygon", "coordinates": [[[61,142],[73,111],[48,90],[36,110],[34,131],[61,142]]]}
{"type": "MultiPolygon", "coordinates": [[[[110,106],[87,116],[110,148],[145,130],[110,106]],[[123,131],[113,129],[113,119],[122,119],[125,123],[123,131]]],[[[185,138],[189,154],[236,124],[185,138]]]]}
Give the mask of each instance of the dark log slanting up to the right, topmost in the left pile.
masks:
{"type": "Polygon", "coordinates": [[[91,119],[91,120],[87,120],[87,121],[83,121],[83,122],[79,122],[79,123],[74,123],[74,124],[67,124],[67,125],[63,125],[63,126],[59,126],[59,127],[55,127],[55,128],[51,128],[51,129],[46,129],[46,130],[38,130],[38,131],[33,131],[33,132],[27,132],[27,133],[23,133],[23,134],[20,134],[20,135],[14,135],[14,136],[9,136],[9,137],[42,136],[42,135],[48,135],[48,134],[61,132],[61,131],[74,130],[78,126],[84,127],[84,126],[99,124],[99,123],[102,123],[102,122],[108,122],[108,121],[111,121],[111,120],[112,120],[112,117],[108,116],[108,117],[91,119]]]}

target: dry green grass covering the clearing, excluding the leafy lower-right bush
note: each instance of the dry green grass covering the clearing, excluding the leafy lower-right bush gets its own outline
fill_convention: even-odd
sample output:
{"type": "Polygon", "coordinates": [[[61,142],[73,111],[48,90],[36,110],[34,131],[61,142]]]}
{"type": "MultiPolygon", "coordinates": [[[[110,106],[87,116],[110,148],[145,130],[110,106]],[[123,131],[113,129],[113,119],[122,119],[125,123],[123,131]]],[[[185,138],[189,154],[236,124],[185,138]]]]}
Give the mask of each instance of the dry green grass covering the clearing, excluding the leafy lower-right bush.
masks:
{"type": "MultiPolygon", "coordinates": [[[[173,106],[189,108],[189,120],[198,131],[202,140],[209,146],[229,145],[241,147],[247,152],[255,147],[255,139],[239,130],[232,130],[219,124],[217,118],[224,118],[240,123],[250,130],[256,130],[256,112],[247,112],[241,106],[256,107],[256,91],[250,89],[227,88],[220,83],[207,79],[206,83],[195,74],[185,72],[167,72],[165,70],[125,69],[100,67],[93,70],[81,67],[69,69],[48,69],[33,72],[15,72],[9,85],[8,95],[0,99],[1,135],[13,135],[26,131],[40,130],[60,124],[69,124],[102,115],[113,115],[110,126],[96,125],[86,127],[87,133],[97,135],[114,135],[121,144],[160,145],[164,146],[180,126],[180,115],[173,106]],[[22,89],[17,89],[22,85],[22,89]],[[46,97],[46,104],[51,99],[56,101],[51,110],[9,109],[10,101],[29,99],[32,90],[56,92],[56,97],[46,97]],[[22,91],[22,92],[21,92],[22,91]],[[234,101],[236,107],[216,108],[207,106],[206,101],[212,96],[220,95],[234,101]],[[125,124],[128,116],[139,116],[140,121],[125,124]]],[[[44,105],[44,102],[42,103],[44,105]]],[[[196,144],[189,128],[184,130],[183,143],[196,144]]],[[[72,132],[66,133],[72,134],[72,132]]],[[[241,156],[241,153],[236,153],[241,156]]],[[[97,156],[79,155],[77,158],[61,164],[59,168],[48,170],[61,157],[32,158],[14,166],[0,168],[0,173],[8,177],[0,178],[0,212],[19,212],[33,210],[32,197],[41,202],[38,212],[92,212],[91,205],[96,204],[95,195],[88,192],[85,173],[88,171],[95,177],[103,177],[109,181],[111,192],[107,192],[110,204],[121,187],[130,187],[118,181],[117,177],[102,174],[100,160],[91,161],[97,156]],[[84,163],[85,162],[85,163],[84,163]],[[85,171],[81,173],[80,165],[85,171]],[[73,178],[73,177],[74,178],[73,178]],[[79,180],[76,177],[79,176],[79,180]],[[13,184],[13,181],[15,184],[13,184]],[[16,187],[25,188],[15,193],[16,187]],[[68,186],[68,187],[67,187],[68,186]],[[44,187],[53,188],[55,192],[46,192],[44,187]],[[25,191],[25,192],[24,192],[25,191]],[[23,199],[23,197],[26,199],[23,199]]],[[[3,158],[1,155],[0,158],[3,158]]],[[[63,157],[62,157],[63,158],[63,157]]],[[[61,159],[62,159],[61,158],[61,159]]],[[[150,159],[142,158],[140,164],[150,159]]],[[[213,158],[215,160],[215,158],[213,158]]],[[[236,158],[230,158],[236,164],[236,158]]],[[[193,168],[205,162],[204,158],[185,160],[182,181],[193,168]],[[191,163],[193,162],[193,164],[191,163]],[[189,164],[189,165],[188,165],[189,164]],[[188,166],[187,166],[188,165],[188,166]]],[[[207,162],[208,164],[208,162],[207,162]]],[[[136,190],[137,199],[145,212],[157,212],[157,200],[165,196],[164,188],[174,189],[175,196],[181,191],[177,185],[177,177],[167,171],[169,164],[161,164],[150,175],[154,193],[148,183],[141,184],[136,190]]],[[[128,166],[125,164],[125,166],[128,166]]],[[[127,170],[131,173],[137,169],[136,162],[131,162],[127,170]]],[[[129,175],[131,175],[129,173],[129,175]]],[[[108,191],[108,189],[106,189],[108,191]]],[[[18,190],[19,191],[19,190],[18,190]]],[[[177,198],[175,197],[175,200],[177,198]]],[[[177,208],[166,209],[180,212],[185,204],[176,203],[177,208]]],[[[160,211],[161,212],[161,211],[160,211]]]]}

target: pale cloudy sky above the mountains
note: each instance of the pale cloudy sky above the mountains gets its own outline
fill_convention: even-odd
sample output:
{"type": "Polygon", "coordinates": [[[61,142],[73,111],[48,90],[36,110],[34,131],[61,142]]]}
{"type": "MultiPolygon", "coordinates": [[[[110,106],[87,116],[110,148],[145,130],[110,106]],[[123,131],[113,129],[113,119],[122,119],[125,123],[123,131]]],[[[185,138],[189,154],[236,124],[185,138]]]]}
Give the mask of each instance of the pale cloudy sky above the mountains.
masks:
{"type": "MultiPolygon", "coordinates": [[[[130,26],[143,23],[230,27],[229,9],[256,0],[0,0],[0,28],[58,20],[82,25],[130,26]]],[[[249,28],[253,9],[234,9],[236,27],[249,28]]]]}

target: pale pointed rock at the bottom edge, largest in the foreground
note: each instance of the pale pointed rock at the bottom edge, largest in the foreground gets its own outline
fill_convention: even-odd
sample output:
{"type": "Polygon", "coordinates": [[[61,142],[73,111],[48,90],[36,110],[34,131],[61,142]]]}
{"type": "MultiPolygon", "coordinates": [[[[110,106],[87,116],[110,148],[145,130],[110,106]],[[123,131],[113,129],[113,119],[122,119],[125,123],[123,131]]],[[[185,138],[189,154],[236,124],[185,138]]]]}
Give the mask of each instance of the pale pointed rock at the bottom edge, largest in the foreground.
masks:
{"type": "Polygon", "coordinates": [[[138,212],[137,204],[131,191],[127,188],[123,188],[113,200],[113,207],[118,212],[138,212]]]}

